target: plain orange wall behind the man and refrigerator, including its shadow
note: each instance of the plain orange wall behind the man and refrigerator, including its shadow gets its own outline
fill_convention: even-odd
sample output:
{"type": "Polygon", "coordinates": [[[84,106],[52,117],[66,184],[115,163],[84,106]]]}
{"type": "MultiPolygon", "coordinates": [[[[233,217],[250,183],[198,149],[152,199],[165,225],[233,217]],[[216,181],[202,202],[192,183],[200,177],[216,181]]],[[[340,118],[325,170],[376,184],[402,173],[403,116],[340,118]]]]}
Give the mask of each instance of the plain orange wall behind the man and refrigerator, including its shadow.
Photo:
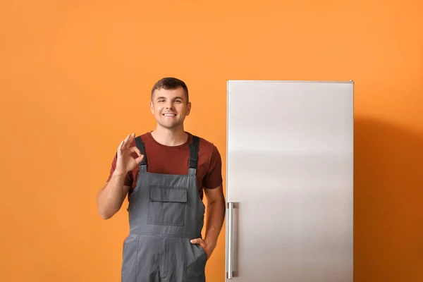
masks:
{"type": "Polygon", "coordinates": [[[188,83],[186,130],[223,163],[226,80],[355,80],[355,281],[423,281],[422,12],[418,0],[2,1],[0,281],[119,281],[126,213],[103,221],[95,197],[121,138],[154,127],[164,76],[188,83]]]}

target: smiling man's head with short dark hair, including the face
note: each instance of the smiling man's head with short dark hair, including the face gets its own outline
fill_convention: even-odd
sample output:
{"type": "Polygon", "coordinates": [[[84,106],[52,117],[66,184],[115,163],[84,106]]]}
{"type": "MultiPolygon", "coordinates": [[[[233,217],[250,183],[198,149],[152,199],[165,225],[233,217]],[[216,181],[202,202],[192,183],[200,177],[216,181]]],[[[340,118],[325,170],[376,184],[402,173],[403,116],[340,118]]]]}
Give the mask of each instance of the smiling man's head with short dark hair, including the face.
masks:
{"type": "Polygon", "coordinates": [[[178,78],[162,78],[152,88],[150,109],[157,123],[164,128],[183,125],[190,114],[188,87],[178,78]]]}

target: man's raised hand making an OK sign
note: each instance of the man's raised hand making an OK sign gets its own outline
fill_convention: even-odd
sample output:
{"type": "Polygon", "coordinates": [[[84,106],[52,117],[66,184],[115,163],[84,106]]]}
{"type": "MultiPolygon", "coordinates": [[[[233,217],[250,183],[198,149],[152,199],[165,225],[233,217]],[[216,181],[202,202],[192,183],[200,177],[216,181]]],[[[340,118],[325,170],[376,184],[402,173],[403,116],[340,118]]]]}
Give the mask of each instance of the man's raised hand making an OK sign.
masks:
{"type": "Polygon", "coordinates": [[[140,164],[142,159],[144,159],[144,155],[141,154],[140,150],[136,146],[130,147],[130,144],[134,139],[135,133],[132,135],[128,134],[125,140],[122,140],[121,144],[119,145],[114,174],[125,175],[129,171],[132,171],[135,166],[140,164]],[[133,152],[137,153],[137,158],[132,156],[133,152]]]}

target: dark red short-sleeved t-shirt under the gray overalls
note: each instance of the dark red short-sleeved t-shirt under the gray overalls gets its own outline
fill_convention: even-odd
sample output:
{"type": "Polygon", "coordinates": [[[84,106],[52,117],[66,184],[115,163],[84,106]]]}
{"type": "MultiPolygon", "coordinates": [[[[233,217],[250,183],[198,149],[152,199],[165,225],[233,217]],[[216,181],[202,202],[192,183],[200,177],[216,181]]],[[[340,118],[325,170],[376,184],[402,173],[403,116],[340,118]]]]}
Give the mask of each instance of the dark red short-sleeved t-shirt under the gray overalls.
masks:
{"type": "MultiPolygon", "coordinates": [[[[161,145],[154,140],[150,132],[141,135],[142,141],[145,144],[145,153],[147,154],[147,171],[151,173],[166,173],[166,174],[188,174],[188,164],[190,159],[190,146],[192,142],[192,135],[188,133],[188,140],[183,145],[166,146],[161,145]]],[[[135,140],[130,144],[135,146],[135,140]]],[[[133,154],[137,157],[137,154],[133,154]]],[[[116,168],[115,157],[111,163],[109,178],[116,168]]],[[[198,192],[201,199],[203,198],[203,189],[214,189],[222,185],[221,173],[221,155],[219,150],[211,142],[200,137],[200,145],[198,151],[197,162],[197,183],[198,192]]],[[[130,171],[125,177],[125,186],[130,186],[129,195],[137,186],[137,176],[140,167],[136,166],[133,171],[130,171]]]]}

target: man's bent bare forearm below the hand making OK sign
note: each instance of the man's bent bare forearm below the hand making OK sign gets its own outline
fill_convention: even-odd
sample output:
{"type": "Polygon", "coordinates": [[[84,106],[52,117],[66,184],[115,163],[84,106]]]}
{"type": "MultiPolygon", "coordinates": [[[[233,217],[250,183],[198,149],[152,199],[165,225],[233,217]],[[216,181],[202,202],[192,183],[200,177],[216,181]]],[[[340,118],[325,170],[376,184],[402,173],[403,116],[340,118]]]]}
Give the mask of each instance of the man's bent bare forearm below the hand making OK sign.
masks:
{"type": "Polygon", "coordinates": [[[109,219],[122,207],[123,200],[128,189],[123,187],[125,175],[114,174],[97,195],[97,206],[99,215],[103,219],[109,219]]]}

